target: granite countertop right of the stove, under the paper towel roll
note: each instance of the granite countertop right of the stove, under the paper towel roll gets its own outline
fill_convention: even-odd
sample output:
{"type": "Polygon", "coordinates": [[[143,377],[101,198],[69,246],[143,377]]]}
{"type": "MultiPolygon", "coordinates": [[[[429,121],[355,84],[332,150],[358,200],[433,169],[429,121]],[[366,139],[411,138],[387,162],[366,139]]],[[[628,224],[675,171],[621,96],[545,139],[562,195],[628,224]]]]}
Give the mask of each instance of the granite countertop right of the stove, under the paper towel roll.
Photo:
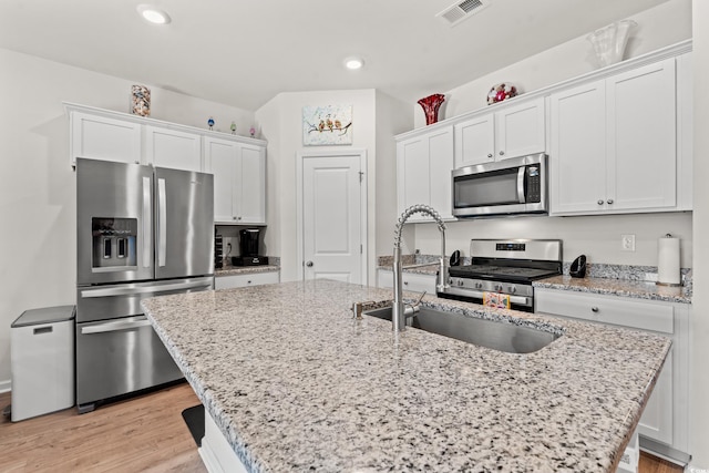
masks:
{"type": "Polygon", "coordinates": [[[691,304],[691,290],[686,287],[658,286],[655,282],[610,279],[610,278],[572,278],[555,276],[540,279],[534,287],[547,289],[572,290],[577,292],[623,296],[635,299],[664,300],[667,302],[691,304]]]}

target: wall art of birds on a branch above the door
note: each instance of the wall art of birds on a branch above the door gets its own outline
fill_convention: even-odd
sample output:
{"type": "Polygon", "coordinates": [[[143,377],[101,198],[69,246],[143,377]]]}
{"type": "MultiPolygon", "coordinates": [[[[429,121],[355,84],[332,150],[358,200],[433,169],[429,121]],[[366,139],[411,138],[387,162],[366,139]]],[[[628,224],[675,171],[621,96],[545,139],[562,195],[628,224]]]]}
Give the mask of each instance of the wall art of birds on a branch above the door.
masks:
{"type": "Polygon", "coordinates": [[[352,144],[352,105],[302,107],[305,146],[352,144]]]}

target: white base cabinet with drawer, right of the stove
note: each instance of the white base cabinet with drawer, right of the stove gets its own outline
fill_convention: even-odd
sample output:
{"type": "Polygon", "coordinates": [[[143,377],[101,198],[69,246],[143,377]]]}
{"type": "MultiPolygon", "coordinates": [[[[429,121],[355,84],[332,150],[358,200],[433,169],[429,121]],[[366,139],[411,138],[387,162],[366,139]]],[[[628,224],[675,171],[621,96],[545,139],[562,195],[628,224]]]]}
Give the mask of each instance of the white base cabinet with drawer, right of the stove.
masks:
{"type": "Polygon", "coordinates": [[[637,431],[666,456],[687,452],[689,306],[546,288],[535,288],[534,296],[536,313],[639,329],[672,340],[637,431]]]}

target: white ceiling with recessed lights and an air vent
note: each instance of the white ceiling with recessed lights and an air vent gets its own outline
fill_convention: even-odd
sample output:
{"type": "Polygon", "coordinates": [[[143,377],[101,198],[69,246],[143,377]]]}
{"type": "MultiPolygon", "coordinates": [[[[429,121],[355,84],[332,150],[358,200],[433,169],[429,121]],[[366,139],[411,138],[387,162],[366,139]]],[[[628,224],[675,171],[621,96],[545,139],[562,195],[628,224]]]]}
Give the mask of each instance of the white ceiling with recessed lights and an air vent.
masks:
{"type": "Polygon", "coordinates": [[[452,0],[153,0],[167,25],[138,17],[148,1],[0,0],[0,48],[247,110],[341,89],[414,103],[668,0],[489,0],[452,28],[452,0]]]}

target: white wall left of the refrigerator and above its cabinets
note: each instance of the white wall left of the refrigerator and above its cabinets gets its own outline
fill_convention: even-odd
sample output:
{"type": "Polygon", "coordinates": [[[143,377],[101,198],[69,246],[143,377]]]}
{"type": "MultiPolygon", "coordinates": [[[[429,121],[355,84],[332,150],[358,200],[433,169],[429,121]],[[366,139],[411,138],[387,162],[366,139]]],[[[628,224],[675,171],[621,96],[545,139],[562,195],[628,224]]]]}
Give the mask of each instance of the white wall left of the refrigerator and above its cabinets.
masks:
{"type": "MultiPolygon", "coordinates": [[[[75,302],[75,182],[61,102],[127,112],[132,83],[0,49],[0,391],[9,388],[10,325],[23,310],[75,302]]],[[[146,84],[152,117],[247,132],[251,112],[146,84]]],[[[242,133],[239,133],[242,134],[242,133]]]]}

